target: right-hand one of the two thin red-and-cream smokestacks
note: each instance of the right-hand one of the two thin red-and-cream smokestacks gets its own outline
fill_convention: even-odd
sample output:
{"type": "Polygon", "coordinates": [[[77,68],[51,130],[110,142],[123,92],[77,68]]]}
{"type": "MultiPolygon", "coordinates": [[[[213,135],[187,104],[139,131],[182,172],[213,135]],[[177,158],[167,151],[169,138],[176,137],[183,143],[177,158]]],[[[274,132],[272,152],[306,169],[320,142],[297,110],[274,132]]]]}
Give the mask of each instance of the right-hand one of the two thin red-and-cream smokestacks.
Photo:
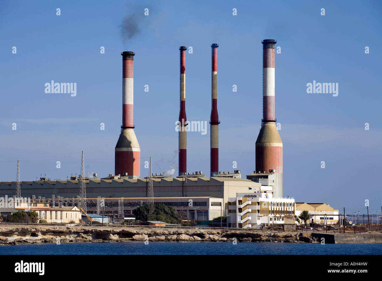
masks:
{"type": "Polygon", "coordinates": [[[217,113],[217,48],[219,44],[211,45],[211,80],[212,80],[212,106],[211,106],[211,177],[219,174],[219,115],[217,113]]]}

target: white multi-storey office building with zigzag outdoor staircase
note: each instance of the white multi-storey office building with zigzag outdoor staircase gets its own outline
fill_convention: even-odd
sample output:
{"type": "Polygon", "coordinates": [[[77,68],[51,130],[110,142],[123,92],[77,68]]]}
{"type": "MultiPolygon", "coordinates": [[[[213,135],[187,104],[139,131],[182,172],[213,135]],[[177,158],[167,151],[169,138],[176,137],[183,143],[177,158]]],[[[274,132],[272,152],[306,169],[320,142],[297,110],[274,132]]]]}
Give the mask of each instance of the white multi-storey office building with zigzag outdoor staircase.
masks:
{"type": "Polygon", "coordinates": [[[254,193],[236,193],[236,198],[228,199],[228,227],[259,228],[261,224],[283,224],[284,216],[288,214],[295,215],[295,200],[273,198],[272,187],[262,186],[254,193]]]}

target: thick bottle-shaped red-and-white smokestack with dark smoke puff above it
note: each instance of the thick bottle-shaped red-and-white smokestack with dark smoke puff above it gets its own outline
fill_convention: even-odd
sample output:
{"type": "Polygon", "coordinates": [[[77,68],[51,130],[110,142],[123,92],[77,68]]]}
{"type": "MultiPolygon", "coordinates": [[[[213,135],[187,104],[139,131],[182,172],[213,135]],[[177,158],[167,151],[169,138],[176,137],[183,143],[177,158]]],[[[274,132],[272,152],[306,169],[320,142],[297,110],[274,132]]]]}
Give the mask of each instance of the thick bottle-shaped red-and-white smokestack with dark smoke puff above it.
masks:
{"type": "Polygon", "coordinates": [[[122,55],[122,126],[115,146],[115,175],[128,173],[129,179],[140,176],[141,148],[134,133],[133,85],[134,52],[122,55]]]}

